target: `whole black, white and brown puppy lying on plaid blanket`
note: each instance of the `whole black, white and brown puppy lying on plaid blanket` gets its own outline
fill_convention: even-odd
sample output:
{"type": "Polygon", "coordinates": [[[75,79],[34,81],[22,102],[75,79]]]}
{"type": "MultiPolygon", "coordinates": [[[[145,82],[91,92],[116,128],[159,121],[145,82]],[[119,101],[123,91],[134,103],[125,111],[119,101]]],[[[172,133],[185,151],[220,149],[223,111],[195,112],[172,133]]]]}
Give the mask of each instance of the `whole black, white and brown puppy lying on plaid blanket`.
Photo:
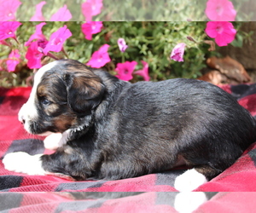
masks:
{"type": "Polygon", "coordinates": [[[256,141],[254,118],[211,83],[129,83],[76,60],[38,70],[19,119],[31,134],[62,137],[49,155],[9,153],[7,170],[117,180],[187,164],[179,191],[218,176],[256,141]]]}

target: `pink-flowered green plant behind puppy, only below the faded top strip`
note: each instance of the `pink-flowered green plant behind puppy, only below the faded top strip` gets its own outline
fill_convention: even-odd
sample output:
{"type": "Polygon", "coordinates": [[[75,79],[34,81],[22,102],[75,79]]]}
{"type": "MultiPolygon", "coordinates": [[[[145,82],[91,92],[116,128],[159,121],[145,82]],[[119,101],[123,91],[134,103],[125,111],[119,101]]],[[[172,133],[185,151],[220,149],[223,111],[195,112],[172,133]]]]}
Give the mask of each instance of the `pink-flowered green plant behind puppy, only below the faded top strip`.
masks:
{"type": "MultiPolygon", "coordinates": [[[[207,35],[207,25],[206,22],[0,22],[0,78],[8,79],[1,83],[25,85],[25,79],[32,76],[31,70],[36,71],[49,60],[67,57],[104,68],[132,82],[196,78],[205,66],[205,55],[215,54],[208,51],[207,40],[218,45],[217,37],[207,35]],[[90,34],[91,40],[84,35],[84,24],[100,26],[90,34]],[[176,52],[175,47],[182,51],[176,52]]],[[[232,23],[234,29],[240,25],[232,23]]]]}

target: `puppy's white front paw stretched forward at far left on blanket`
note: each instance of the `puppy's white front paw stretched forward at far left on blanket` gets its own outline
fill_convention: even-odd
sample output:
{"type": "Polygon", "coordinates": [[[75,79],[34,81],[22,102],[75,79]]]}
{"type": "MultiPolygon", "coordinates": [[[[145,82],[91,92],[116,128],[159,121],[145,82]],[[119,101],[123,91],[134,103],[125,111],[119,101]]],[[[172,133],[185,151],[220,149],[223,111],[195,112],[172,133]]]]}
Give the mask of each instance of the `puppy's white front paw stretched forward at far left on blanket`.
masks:
{"type": "Polygon", "coordinates": [[[9,153],[3,158],[5,170],[26,173],[28,175],[44,175],[40,157],[43,154],[29,155],[28,153],[9,153]]]}

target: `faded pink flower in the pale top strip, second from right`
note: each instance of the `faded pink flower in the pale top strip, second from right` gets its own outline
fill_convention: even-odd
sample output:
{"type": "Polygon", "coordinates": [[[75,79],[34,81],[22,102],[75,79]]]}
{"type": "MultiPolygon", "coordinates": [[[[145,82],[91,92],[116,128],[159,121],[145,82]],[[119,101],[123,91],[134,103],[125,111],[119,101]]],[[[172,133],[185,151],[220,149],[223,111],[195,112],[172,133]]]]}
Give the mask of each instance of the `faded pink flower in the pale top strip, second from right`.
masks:
{"type": "Polygon", "coordinates": [[[103,0],[87,0],[82,4],[82,13],[86,21],[91,21],[92,16],[102,12],[103,0]]]}

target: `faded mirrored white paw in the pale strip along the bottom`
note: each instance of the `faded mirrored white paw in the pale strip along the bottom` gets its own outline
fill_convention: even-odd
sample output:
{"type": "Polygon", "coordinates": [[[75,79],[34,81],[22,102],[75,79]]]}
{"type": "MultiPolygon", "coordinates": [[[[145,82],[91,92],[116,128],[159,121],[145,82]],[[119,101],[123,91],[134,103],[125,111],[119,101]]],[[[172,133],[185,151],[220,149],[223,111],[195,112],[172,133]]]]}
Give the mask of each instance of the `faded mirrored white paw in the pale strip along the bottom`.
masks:
{"type": "Polygon", "coordinates": [[[175,197],[174,208],[180,213],[190,213],[205,202],[207,202],[207,196],[205,193],[178,193],[175,197]]]}

